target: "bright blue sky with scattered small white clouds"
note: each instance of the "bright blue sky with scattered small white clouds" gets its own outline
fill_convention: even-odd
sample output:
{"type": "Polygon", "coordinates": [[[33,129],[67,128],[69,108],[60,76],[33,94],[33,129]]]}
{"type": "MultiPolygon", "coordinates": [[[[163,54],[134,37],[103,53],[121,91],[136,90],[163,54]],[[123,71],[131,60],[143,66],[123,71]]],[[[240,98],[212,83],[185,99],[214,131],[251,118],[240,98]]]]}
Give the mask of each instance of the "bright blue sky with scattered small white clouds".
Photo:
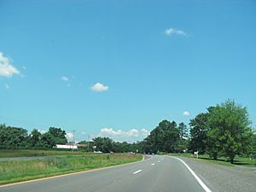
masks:
{"type": "Polygon", "coordinates": [[[0,1],[0,123],[142,140],[234,99],[256,123],[254,0],[0,1]]]}

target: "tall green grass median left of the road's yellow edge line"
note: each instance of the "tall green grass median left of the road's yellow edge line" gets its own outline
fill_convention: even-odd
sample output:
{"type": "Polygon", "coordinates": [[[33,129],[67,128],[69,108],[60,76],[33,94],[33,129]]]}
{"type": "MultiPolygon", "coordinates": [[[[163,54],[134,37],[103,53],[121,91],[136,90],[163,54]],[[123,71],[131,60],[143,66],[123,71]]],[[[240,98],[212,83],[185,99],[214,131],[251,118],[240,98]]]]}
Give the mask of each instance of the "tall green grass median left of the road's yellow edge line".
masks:
{"type": "Polygon", "coordinates": [[[50,156],[45,160],[0,162],[0,184],[115,166],[142,160],[141,154],[81,154],[50,156]]]}

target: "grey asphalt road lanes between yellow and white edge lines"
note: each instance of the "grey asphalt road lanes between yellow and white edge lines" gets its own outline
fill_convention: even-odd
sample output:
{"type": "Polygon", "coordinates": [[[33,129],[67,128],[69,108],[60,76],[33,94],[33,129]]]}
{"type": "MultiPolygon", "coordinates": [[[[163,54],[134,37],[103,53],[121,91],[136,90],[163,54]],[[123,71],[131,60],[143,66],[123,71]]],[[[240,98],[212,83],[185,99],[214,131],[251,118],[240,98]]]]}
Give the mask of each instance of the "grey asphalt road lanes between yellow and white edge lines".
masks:
{"type": "MultiPolygon", "coordinates": [[[[193,171],[192,171],[193,172],[193,171]]],[[[0,187],[1,192],[210,192],[180,160],[148,160],[92,172],[0,187]]],[[[200,180],[200,179],[199,179],[200,180]]]]}

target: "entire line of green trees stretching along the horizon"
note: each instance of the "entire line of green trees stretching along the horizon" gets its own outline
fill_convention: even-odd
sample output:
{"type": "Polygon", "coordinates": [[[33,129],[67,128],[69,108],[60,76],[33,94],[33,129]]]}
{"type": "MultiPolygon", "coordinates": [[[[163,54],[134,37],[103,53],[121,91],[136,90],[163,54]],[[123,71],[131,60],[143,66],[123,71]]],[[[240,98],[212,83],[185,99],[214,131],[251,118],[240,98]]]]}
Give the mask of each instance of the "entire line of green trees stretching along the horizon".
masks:
{"type": "MultiPolygon", "coordinates": [[[[66,131],[50,127],[41,133],[34,129],[30,134],[23,128],[0,125],[0,148],[53,148],[55,144],[67,143],[66,131]]],[[[189,126],[183,122],[163,120],[148,137],[137,143],[114,142],[109,137],[96,137],[82,141],[90,148],[103,153],[183,153],[209,154],[212,159],[227,157],[231,163],[236,155],[256,158],[256,133],[249,120],[247,108],[232,100],[208,107],[190,119],[189,126]],[[92,148],[96,146],[96,148],[92,148]]]]}

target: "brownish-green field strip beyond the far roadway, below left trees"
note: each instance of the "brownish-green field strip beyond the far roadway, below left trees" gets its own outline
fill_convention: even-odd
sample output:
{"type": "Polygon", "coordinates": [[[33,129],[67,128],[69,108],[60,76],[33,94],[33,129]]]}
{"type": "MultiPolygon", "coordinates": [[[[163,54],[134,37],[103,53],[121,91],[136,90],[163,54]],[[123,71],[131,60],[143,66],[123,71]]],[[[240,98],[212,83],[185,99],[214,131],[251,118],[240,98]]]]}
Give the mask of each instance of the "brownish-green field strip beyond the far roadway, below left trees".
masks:
{"type": "Polygon", "coordinates": [[[84,153],[85,152],[58,151],[58,150],[0,150],[0,158],[68,155],[68,154],[84,154],[84,153]]]}

